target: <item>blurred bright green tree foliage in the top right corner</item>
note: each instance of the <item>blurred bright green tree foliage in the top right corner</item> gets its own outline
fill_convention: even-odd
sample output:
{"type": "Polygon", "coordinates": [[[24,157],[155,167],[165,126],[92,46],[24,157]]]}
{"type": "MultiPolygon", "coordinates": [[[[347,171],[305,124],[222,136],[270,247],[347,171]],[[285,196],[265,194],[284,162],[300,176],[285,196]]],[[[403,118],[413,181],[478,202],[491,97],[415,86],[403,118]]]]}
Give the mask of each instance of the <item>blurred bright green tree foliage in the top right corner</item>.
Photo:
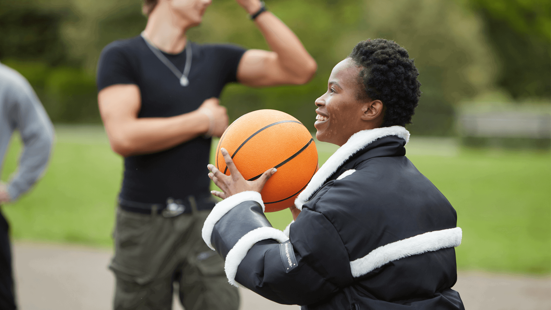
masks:
{"type": "Polygon", "coordinates": [[[551,97],[551,2],[469,0],[501,63],[498,84],[517,100],[551,97]]]}

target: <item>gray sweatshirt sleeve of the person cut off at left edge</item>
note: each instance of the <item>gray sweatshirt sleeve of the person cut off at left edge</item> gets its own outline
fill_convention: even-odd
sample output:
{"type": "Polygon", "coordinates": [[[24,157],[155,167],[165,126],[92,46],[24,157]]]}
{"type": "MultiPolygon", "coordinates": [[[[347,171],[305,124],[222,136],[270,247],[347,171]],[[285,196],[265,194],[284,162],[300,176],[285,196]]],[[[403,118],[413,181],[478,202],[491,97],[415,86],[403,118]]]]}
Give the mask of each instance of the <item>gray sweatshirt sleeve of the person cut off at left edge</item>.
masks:
{"type": "MultiPolygon", "coordinates": [[[[5,67],[3,68],[6,69],[5,67]]],[[[4,99],[10,101],[7,119],[19,130],[24,148],[17,171],[8,184],[10,200],[17,200],[42,177],[53,145],[53,126],[33,88],[19,73],[3,87],[4,99]]],[[[3,76],[6,78],[6,75],[3,76]]]]}

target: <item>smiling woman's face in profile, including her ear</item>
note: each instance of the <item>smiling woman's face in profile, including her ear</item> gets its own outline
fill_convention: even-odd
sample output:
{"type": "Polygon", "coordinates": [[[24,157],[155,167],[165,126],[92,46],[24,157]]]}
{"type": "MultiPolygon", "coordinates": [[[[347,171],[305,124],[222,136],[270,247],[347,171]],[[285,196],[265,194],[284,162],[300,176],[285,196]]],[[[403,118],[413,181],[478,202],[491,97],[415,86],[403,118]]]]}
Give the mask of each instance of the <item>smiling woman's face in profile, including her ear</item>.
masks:
{"type": "Polygon", "coordinates": [[[317,140],[342,146],[354,133],[381,125],[381,101],[358,98],[359,72],[360,67],[350,58],[331,71],[327,92],[315,101],[317,140]]]}

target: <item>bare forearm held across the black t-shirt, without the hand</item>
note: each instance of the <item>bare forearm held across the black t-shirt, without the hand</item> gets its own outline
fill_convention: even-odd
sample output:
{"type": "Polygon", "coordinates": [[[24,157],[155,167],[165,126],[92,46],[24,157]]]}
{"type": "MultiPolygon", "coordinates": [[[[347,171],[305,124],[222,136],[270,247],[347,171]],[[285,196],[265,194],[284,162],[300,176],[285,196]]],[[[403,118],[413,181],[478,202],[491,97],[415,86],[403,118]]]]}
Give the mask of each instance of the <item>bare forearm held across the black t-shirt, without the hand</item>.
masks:
{"type": "Polygon", "coordinates": [[[172,117],[132,118],[106,126],[106,131],[111,148],[128,157],[163,151],[206,133],[208,128],[208,116],[192,111],[172,117]]]}

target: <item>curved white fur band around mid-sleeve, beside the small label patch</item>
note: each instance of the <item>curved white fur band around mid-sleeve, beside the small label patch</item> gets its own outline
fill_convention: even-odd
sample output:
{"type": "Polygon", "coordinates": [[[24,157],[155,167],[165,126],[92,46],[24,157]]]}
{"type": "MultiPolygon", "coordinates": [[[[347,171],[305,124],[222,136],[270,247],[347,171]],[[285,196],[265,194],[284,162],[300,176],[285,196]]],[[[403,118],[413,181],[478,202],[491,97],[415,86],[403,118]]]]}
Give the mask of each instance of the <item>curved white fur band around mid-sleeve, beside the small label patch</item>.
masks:
{"type": "Polygon", "coordinates": [[[259,227],[241,237],[239,241],[231,248],[228,255],[226,255],[226,261],[224,263],[224,270],[226,271],[226,277],[231,285],[237,286],[235,282],[235,274],[237,273],[237,266],[241,264],[241,261],[249,252],[255,243],[266,239],[276,239],[278,242],[285,242],[289,240],[285,234],[279,229],[273,227],[259,227]]]}

